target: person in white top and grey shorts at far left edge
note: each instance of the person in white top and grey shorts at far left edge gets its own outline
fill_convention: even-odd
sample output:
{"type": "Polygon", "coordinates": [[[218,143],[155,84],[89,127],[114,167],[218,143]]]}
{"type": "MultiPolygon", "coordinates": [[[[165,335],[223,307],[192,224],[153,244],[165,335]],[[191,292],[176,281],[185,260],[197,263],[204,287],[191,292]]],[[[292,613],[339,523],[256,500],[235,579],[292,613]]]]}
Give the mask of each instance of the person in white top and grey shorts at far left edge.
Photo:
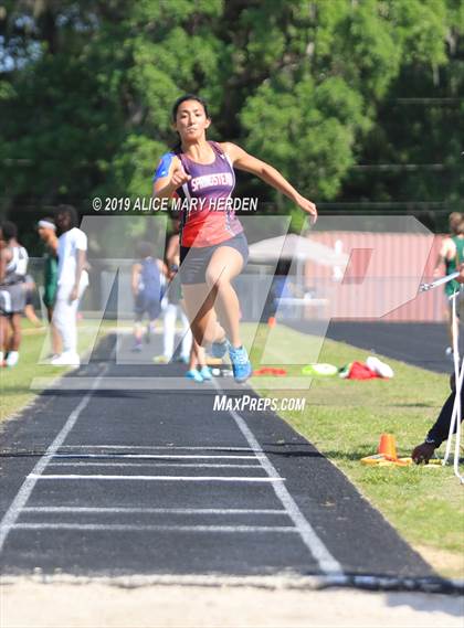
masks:
{"type": "Polygon", "coordinates": [[[28,252],[17,240],[15,224],[4,222],[0,232],[0,365],[15,366],[21,344],[21,315],[25,306],[28,252]]]}

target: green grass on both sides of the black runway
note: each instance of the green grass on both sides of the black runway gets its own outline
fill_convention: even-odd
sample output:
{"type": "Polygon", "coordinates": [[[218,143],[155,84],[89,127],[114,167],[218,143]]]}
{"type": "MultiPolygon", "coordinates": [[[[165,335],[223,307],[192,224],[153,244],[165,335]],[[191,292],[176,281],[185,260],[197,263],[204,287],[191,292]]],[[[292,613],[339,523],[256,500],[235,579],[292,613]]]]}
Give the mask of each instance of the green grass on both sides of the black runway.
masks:
{"type": "MultiPolygon", "coordinates": [[[[251,337],[252,328],[243,326],[243,329],[245,336],[251,337]]],[[[261,327],[255,339],[252,352],[255,368],[260,366],[267,329],[261,327]]],[[[81,328],[81,351],[89,348],[96,331],[88,322],[81,328]]],[[[65,372],[63,368],[38,364],[45,341],[43,330],[27,329],[27,333],[18,368],[0,372],[0,417],[3,419],[33,398],[30,390],[33,377],[59,376],[65,372]]],[[[292,351],[300,355],[302,348],[314,347],[314,339],[284,326],[277,326],[274,333],[266,355],[275,360],[276,366],[281,365],[280,356],[284,352],[291,358],[292,351]]],[[[360,349],[326,340],[318,361],[341,366],[352,360],[362,361],[367,355],[360,349]]],[[[464,493],[452,468],[369,468],[359,461],[376,453],[383,432],[394,434],[399,454],[408,456],[412,447],[423,440],[449,395],[446,375],[390,359],[386,361],[396,373],[390,381],[318,379],[313,381],[309,391],[303,392],[263,390],[260,377],[253,377],[252,384],[266,396],[305,396],[305,411],[283,413],[283,418],[346,473],[440,573],[464,577],[464,493]]],[[[285,368],[288,374],[300,372],[300,366],[285,368]]],[[[440,451],[443,449],[444,446],[440,451]]]]}

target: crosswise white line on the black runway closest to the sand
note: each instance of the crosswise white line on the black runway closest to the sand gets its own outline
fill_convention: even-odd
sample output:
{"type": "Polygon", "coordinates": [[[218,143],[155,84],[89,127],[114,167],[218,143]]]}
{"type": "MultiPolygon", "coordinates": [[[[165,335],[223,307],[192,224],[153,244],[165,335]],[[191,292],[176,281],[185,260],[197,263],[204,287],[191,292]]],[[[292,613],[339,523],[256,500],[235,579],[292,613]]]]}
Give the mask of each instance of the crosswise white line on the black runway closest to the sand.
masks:
{"type": "Polygon", "coordinates": [[[124,523],[15,523],[14,530],[88,530],[113,532],[289,532],[298,533],[293,525],[138,525],[124,523]]]}

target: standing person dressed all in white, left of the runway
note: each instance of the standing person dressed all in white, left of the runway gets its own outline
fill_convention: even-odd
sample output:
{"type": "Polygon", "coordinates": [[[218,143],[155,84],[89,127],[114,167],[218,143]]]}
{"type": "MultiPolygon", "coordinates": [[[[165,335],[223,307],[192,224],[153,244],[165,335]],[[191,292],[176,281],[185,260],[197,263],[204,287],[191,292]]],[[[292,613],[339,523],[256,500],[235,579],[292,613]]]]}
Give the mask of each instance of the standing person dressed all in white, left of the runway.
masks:
{"type": "Polygon", "coordinates": [[[77,308],[88,286],[86,267],[87,236],[77,228],[77,212],[72,205],[60,205],[56,226],[61,235],[57,247],[57,292],[53,323],[62,342],[63,353],[52,359],[55,365],[80,364],[77,353],[77,308]]]}

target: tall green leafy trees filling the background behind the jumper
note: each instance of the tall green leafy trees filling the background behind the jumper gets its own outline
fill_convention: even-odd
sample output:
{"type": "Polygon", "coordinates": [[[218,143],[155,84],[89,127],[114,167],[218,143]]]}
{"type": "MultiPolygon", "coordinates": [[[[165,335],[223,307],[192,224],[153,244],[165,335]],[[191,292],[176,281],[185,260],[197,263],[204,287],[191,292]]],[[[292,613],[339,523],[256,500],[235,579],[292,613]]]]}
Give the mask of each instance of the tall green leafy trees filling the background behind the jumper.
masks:
{"type": "MultiPolygon", "coordinates": [[[[462,210],[462,0],[0,4],[0,207],[150,193],[182,93],[323,209],[462,210]]],[[[286,199],[249,177],[239,192],[286,199]]],[[[25,217],[25,216],[29,216],[25,217]]]]}

